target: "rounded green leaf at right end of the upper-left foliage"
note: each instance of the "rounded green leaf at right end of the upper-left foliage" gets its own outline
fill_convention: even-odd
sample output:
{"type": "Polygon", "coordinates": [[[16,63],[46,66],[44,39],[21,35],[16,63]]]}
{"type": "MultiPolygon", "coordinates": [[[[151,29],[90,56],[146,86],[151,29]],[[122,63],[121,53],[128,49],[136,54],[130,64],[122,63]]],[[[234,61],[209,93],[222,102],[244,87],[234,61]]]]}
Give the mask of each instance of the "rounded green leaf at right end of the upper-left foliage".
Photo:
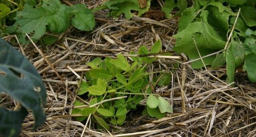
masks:
{"type": "Polygon", "coordinates": [[[68,7],[69,14],[75,17],[71,19],[71,24],[84,31],[92,30],[96,24],[93,12],[86,8],[84,4],[76,4],[68,7]]]}

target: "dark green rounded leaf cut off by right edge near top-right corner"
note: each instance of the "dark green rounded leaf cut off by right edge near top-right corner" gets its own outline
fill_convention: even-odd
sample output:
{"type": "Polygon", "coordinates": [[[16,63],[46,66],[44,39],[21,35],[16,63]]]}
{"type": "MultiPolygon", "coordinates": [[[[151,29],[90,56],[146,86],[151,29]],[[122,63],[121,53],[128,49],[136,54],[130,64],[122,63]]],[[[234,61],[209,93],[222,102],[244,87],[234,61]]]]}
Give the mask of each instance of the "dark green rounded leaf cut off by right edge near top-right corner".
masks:
{"type": "Polygon", "coordinates": [[[241,8],[241,16],[249,27],[256,26],[256,9],[246,6],[241,8]]]}

